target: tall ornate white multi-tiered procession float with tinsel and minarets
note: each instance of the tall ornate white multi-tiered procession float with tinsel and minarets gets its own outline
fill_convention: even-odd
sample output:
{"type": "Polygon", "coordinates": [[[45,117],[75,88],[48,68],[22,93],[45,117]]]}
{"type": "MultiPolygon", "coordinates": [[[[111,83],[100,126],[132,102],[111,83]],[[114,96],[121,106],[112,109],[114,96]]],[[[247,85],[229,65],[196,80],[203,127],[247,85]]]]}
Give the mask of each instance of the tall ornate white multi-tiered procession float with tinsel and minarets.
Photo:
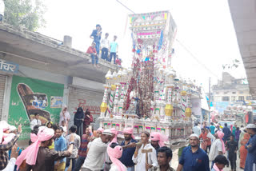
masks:
{"type": "Polygon", "coordinates": [[[105,92],[98,117],[104,129],[134,128],[140,133],[161,132],[166,145],[178,146],[192,133],[191,98],[201,88],[178,78],[171,66],[176,25],[169,11],[129,15],[134,53],[132,66],[106,74],[105,92]]]}

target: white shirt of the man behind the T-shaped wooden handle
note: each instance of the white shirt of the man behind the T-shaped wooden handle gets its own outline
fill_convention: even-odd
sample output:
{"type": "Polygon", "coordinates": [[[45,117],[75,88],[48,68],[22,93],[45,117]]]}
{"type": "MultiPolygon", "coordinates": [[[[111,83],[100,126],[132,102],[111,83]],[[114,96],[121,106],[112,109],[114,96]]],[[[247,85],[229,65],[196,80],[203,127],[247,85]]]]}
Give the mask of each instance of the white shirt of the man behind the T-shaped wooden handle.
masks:
{"type": "MultiPolygon", "coordinates": [[[[152,152],[148,153],[148,164],[153,165],[154,167],[158,166],[157,153],[151,144],[147,144],[145,147],[138,149],[138,156],[136,158],[133,155],[133,161],[136,164],[136,170],[146,171],[146,153],[142,153],[142,149],[152,149],[152,152]]],[[[153,170],[153,167],[148,169],[148,171],[151,170],[153,170]]]]}

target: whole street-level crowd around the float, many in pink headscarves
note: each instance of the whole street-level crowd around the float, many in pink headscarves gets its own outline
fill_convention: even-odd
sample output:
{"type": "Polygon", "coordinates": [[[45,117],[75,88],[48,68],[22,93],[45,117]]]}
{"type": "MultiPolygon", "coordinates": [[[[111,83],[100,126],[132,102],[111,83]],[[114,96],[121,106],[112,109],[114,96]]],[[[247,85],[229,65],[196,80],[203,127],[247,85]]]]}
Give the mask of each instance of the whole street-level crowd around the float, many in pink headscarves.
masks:
{"type": "MultiPolygon", "coordinates": [[[[70,113],[66,106],[62,108],[58,124],[49,121],[41,125],[38,120],[35,114],[30,142],[24,150],[17,144],[22,125],[17,129],[0,121],[0,170],[175,170],[170,166],[172,150],[165,145],[168,137],[162,133],[143,131],[140,141],[136,141],[134,129],[126,128],[122,131],[122,140],[115,128],[93,130],[90,110],[84,113],[82,108],[74,115],[74,125],[68,126],[70,113]]],[[[227,166],[234,171],[240,157],[239,167],[253,171],[256,169],[256,125],[241,127],[195,124],[189,145],[180,150],[176,170],[221,171],[227,166]]]]}

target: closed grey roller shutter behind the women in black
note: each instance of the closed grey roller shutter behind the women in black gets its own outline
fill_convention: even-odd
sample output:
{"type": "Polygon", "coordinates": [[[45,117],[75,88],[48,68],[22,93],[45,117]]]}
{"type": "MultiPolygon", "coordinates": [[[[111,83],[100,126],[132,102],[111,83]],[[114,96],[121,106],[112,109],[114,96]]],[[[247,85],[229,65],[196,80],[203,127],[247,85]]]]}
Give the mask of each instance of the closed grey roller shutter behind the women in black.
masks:
{"type": "Polygon", "coordinates": [[[82,89],[70,86],[69,87],[69,105],[68,109],[70,112],[70,125],[74,124],[74,113],[76,112],[78,106],[84,109],[90,109],[90,113],[94,117],[94,129],[98,129],[99,122],[97,118],[100,116],[100,105],[102,104],[103,92],[98,92],[90,89],[82,89]]]}

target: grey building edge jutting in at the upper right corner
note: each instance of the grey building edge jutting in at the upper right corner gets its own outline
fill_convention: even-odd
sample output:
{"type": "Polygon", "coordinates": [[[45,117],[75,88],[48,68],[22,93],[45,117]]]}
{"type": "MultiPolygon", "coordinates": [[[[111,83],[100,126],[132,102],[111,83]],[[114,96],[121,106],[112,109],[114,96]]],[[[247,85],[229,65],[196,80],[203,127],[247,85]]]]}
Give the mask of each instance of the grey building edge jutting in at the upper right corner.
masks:
{"type": "Polygon", "coordinates": [[[250,94],[256,97],[256,1],[229,0],[230,14],[242,61],[246,69],[250,94]]]}

